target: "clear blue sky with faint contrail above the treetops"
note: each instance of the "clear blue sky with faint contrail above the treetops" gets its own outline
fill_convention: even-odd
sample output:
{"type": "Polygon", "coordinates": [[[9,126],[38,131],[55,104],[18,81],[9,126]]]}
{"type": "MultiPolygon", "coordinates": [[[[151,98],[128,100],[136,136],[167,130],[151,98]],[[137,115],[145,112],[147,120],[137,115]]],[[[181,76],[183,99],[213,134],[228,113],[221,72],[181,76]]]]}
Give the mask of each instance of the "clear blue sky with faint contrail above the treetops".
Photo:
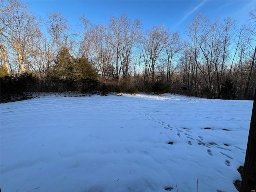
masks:
{"type": "Polygon", "coordinates": [[[198,12],[206,18],[214,20],[217,16],[220,20],[231,17],[244,24],[248,19],[250,10],[256,6],[256,1],[247,0],[130,0],[130,1],[99,1],[99,0],[28,0],[31,10],[46,18],[48,12],[62,13],[75,27],[79,22],[79,16],[85,15],[93,24],[108,23],[111,14],[120,16],[126,13],[130,18],[140,18],[143,28],[150,29],[153,26],[164,24],[173,31],[178,30],[183,34],[189,22],[192,22],[198,12]]]}

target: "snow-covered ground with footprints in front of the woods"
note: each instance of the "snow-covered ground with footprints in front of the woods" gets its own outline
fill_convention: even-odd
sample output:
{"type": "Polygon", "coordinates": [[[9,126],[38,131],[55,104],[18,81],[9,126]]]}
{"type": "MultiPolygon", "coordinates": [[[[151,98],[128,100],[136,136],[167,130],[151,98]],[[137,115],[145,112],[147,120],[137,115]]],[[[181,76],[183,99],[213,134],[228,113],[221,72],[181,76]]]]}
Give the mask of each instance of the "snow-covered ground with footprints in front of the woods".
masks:
{"type": "Polygon", "coordinates": [[[1,104],[3,192],[236,192],[252,101],[122,94],[1,104]],[[211,128],[211,129],[205,129],[211,128]],[[173,142],[173,144],[168,144],[173,142]]]}

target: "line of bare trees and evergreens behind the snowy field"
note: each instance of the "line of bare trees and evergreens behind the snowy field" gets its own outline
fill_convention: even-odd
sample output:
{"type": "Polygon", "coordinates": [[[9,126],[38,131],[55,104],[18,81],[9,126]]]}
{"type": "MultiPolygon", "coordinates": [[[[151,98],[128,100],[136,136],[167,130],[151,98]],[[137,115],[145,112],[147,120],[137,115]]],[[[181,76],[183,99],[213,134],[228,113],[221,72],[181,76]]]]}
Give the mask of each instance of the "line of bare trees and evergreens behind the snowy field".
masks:
{"type": "Polygon", "coordinates": [[[74,29],[61,13],[42,20],[22,1],[0,3],[1,96],[100,90],[253,98],[256,8],[242,26],[198,14],[182,39],[164,25],[143,30],[126,14],[108,25],[81,16],[74,29]]]}

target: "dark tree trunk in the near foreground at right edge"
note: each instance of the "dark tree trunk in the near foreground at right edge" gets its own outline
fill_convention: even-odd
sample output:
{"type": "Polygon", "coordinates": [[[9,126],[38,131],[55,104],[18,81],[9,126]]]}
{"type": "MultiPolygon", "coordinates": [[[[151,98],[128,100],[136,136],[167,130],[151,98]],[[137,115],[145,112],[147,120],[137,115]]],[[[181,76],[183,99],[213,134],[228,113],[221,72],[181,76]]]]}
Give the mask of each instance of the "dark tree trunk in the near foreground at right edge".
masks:
{"type": "Polygon", "coordinates": [[[256,89],[252,108],[252,118],[247,142],[241,192],[256,191],[256,89]]]}

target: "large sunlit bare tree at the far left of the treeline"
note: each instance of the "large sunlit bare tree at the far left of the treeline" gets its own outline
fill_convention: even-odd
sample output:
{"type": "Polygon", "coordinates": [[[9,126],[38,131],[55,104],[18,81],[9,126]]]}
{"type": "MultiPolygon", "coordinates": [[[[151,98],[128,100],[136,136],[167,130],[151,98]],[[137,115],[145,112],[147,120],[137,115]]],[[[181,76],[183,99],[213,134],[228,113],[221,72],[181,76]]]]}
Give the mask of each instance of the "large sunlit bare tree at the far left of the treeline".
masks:
{"type": "Polygon", "coordinates": [[[15,53],[13,57],[18,62],[18,69],[24,72],[30,67],[28,54],[30,45],[37,37],[39,23],[36,16],[27,11],[23,2],[17,1],[13,4],[10,1],[10,4],[13,6],[0,12],[1,55],[4,56],[6,66],[6,54],[15,53]],[[6,51],[6,47],[10,51],[6,51]]]}

